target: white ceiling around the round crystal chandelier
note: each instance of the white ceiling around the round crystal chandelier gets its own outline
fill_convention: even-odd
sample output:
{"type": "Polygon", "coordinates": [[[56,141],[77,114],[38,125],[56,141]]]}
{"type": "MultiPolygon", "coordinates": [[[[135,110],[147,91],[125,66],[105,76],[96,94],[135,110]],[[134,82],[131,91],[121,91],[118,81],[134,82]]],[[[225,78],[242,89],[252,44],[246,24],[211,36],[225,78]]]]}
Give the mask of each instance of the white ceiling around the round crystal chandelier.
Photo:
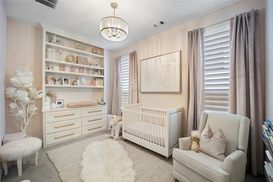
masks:
{"type": "Polygon", "coordinates": [[[39,22],[101,42],[106,49],[125,46],[171,29],[237,1],[67,1],[60,0],[55,9],[33,0],[5,1],[8,19],[38,27],[39,22]],[[113,15],[111,2],[118,3],[115,16],[128,23],[128,38],[122,42],[105,40],[99,34],[102,18],[113,15]],[[151,26],[159,20],[166,25],[151,26]]]}

